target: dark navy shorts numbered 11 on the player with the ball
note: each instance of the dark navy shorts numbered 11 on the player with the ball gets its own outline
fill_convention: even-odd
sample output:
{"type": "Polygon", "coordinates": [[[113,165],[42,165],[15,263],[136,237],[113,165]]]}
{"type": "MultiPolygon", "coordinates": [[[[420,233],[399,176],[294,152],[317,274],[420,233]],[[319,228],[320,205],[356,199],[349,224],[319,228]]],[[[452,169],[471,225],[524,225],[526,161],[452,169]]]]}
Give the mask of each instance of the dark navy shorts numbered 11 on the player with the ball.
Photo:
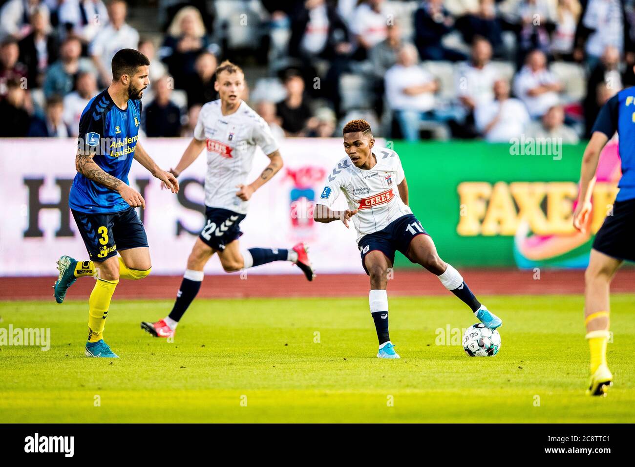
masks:
{"type": "Polygon", "coordinates": [[[393,220],[382,230],[364,235],[359,240],[358,247],[361,252],[361,265],[366,274],[368,274],[368,269],[364,264],[366,255],[377,250],[386,255],[394,264],[395,252],[401,252],[405,256],[410,242],[417,235],[428,235],[428,233],[413,214],[403,215],[399,219],[393,220]]]}

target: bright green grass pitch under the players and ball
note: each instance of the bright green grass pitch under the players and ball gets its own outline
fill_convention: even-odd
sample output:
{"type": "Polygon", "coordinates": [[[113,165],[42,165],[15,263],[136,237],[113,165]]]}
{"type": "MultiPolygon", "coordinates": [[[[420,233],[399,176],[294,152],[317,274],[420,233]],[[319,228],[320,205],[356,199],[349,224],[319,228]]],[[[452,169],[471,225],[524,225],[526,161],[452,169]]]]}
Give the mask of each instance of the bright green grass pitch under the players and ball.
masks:
{"type": "MultiPolygon", "coordinates": [[[[483,297],[497,356],[438,345],[475,322],[455,297],[391,298],[401,360],[379,360],[367,299],[199,300],[175,341],[145,334],[171,301],[118,301],[85,358],[86,302],[0,302],[0,328],[50,328],[51,348],[0,347],[0,422],[635,422],[632,295],[612,297],[615,386],[584,394],[580,296],[483,297]]],[[[450,339],[451,342],[451,339],[450,339]]]]}

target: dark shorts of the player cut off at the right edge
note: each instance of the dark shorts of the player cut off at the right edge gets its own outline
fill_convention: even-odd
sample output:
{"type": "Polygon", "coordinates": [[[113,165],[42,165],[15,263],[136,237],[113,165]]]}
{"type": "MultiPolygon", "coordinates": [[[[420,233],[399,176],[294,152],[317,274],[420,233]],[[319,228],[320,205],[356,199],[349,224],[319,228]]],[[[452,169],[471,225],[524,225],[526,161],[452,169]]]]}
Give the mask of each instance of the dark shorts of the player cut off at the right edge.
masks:
{"type": "Polygon", "coordinates": [[[593,240],[593,249],[617,259],[635,261],[635,200],[615,201],[593,240]]]}

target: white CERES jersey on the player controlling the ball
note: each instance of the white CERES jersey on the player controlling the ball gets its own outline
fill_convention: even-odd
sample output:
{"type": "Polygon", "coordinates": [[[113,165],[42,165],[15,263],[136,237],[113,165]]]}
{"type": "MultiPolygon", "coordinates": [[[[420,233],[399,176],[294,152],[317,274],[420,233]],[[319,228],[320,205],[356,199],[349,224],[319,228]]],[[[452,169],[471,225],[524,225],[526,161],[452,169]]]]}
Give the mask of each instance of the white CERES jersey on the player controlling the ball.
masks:
{"type": "Polygon", "coordinates": [[[405,177],[399,156],[385,147],[373,147],[373,154],[377,164],[370,170],[357,168],[348,156],[339,161],[316,201],[331,208],[340,191],[344,193],[349,209],[358,209],[351,217],[358,232],[357,241],[412,213],[401,201],[397,188],[405,177]]]}

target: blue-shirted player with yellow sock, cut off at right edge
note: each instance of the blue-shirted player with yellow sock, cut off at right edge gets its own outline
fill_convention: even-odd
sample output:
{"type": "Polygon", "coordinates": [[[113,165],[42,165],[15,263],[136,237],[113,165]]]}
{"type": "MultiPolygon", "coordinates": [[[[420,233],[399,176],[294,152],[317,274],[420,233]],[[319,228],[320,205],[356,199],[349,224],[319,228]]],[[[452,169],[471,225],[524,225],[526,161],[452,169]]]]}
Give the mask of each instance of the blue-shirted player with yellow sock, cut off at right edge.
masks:
{"type": "MultiPolygon", "coordinates": [[[[635,67],[633,67],[635,70],[635,67]]],[[[622,159],[622,178],[613,204],[600,227],[584,273],[584,324],[591,352],[591,377],[587,394],[605,396],[613,385],[613,374],[606,363],[606,344],[610,326],[610,285],[624,261],[635,261],[635,87],[626,88],[606,101],[591,130],[591,139],[582,156],[578,204],[573,226],[585,232],[591,224],[591,196],[595,185],[599,155],[606,142],[618,135],[622,159]]],[[[603,206],[596,206],[602,209],[603,206]]]]}

